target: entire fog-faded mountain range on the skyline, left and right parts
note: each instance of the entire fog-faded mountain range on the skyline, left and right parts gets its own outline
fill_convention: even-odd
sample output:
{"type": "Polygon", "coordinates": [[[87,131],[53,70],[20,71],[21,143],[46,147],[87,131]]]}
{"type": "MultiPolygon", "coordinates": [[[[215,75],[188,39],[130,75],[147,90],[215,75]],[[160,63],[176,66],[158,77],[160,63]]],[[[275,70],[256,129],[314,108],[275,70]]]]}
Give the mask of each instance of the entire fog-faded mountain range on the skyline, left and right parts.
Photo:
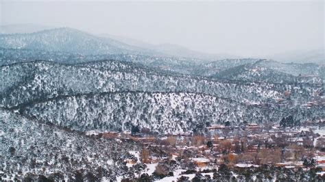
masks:
{"type": "MultiPolygon", "coordinates": [[[[42,49],[46,51],[69,51],[80,54],[140,54],[164,57],[187,57],[196,60],[225,60],[242,58],[230,54],[210,54],[193,51],[176,44],[149,44],[132,38],[101,34],[95,36],[71,28],[51,29],[49,26],[23,24],[0,26],[2,35],[0,47],[19,49],[42,49]],[[44,31],[46,29],[46,31],[44,31]],[[19,34],[24,34],[19,35],[19,34]],[[30,35],[29,35],[30,34],[30,35]],[[59,36],[60,35],[60,36],[59,36]],[[55,39],[51,39],[55,38],[55,39]],[[43,40],[44,42],[38,42],[43,40]],[[38,44],[38,47],[35,45],[38,44]],[[52,44],[52,46],[51,46],[52,44]],[[60,47],[53,46],[60,44],[60,47]],[[78,44],[72,49],[71,44],[78,44]],[[86,47],[86,44],[88,47],[86,47]],[[70,48],[70,49],[69,49],[70,48]]],[[[289,51],[276,55],[267,55],[264,58],[280,62],[318,63],[325,62],[324,49],[311,51],[289,51]]]]}

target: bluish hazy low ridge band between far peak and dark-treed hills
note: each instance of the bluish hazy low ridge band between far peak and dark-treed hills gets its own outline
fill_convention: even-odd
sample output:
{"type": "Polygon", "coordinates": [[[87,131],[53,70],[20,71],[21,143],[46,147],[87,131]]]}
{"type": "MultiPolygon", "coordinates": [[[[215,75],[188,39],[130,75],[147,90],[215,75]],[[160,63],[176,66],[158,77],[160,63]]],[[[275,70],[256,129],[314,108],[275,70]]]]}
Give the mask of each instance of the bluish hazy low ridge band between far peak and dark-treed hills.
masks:
{"type": "MultiPolygon", "coordinates": [[[[275,74],[284,73],[297,76],[316,75],[325,78],[324,65],[321,64],[294,64],[281,63],[272,60],[261,59],[226,59],[217,61],[196,60],[179,57],[164,57],[152,55],[131,54],[104,54],[82,55],[77,53],[65,53],[60,51],[44,51],[33,49],[4,49],[0,48],[0,66],[16,62],[31,62],[34,60],[47,60],[64,64],[79,64],[83,62],[95,62],[98,60],[120,60],[124,62],[140,63],[156,70],[176,72],[186,75],[198,75],[210,77],[221,75],[222,72],[231,72],[236,66],[252,65],[250,68],[267,68],[267,71],[275,74]],[[229,69],[229,70],[228,70],[229,69]],[[220,73],[220,74],[219,74],[220,73]]],[[[236,74],[236,73],[234,73],[236,74]]],[[[276,77],[275,75],[271,77],[276,77]]]]}

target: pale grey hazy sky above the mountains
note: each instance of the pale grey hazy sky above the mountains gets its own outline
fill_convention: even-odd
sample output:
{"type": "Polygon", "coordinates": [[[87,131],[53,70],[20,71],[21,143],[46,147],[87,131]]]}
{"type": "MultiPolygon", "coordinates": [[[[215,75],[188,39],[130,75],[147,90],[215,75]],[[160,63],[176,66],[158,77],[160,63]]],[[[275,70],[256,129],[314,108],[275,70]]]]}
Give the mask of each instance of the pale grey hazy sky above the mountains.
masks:
{"type": "Polygon", "coordinates": [[[1,25],[74,27],[207,53],[324,49],[324,1],[2,1],[1,25]]]}

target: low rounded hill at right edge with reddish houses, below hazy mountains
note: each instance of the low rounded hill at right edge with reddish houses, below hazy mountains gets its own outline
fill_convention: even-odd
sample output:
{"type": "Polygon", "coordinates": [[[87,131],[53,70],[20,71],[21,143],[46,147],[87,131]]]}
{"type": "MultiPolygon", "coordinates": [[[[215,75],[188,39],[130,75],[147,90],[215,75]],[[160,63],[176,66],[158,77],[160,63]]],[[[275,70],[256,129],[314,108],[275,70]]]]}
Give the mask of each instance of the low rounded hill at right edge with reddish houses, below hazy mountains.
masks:
{"type": "Polygon", "coordinates": [[[226,70],[221,70],[210,77],[252,82],[288,83],[292,85],[298,83],[322,85],[321,66],[315,64],[291,64],[290,66],[281,64],[281,66],[278,67],[276,64],[278,63],[273,62],[273,64],[269,64],[268,62],[256,62],[254,64],[242,64],[226,70]],[[297,66],[299,67],[297,68],[297,66]],[[291,71],[286,72],[286,67],[291,71]]]}

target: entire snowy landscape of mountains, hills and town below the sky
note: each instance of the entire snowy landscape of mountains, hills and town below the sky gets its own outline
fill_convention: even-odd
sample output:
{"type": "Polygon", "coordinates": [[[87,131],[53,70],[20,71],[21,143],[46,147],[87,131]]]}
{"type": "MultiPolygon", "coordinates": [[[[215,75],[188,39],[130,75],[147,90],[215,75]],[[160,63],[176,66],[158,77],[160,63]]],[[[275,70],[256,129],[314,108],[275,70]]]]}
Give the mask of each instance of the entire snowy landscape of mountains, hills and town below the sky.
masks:
{"type": "Polygon", "coordinates": [[[324,64],[171,49],[0,34],[0,181],[324,180],[324,64]]]}

